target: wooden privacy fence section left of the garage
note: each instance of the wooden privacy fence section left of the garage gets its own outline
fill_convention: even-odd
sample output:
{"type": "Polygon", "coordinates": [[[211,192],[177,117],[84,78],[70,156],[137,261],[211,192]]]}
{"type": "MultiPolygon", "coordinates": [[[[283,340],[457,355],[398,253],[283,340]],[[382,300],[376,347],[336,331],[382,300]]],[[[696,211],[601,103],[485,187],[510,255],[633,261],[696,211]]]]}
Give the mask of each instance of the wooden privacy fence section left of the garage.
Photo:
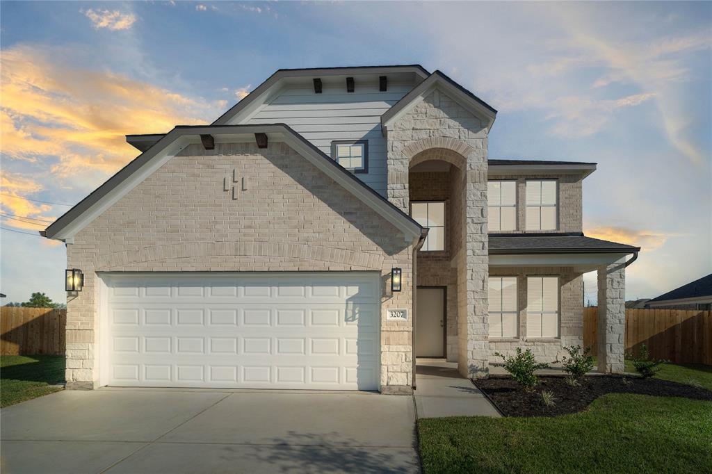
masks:
{"type": "Polygon", "coordinates": [[[64,354],[67,310],[0,307],[0,354],[64,354]]]}

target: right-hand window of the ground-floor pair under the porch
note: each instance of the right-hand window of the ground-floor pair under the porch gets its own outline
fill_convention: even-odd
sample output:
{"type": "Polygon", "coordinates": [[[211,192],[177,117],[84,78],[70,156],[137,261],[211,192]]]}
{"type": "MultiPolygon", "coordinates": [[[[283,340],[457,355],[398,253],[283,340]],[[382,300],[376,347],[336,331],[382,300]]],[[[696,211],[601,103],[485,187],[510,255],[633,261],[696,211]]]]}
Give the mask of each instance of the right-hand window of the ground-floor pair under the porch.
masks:
{"type": "Polygon", "coordinates": [[[558,337],[559,278],[527,278],[527,337],[558,337]]]}

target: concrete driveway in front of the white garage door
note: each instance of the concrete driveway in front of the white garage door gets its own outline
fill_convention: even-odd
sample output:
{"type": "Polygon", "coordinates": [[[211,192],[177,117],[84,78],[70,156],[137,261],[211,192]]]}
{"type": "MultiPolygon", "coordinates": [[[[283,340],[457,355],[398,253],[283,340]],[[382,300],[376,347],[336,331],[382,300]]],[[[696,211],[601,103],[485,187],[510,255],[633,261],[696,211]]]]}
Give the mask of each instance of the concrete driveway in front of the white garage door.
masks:
{"type": "Polygon", "coordinates": [[[419,471],[411,396],[61,391],[1,411],[3,473],[419,471]]]}

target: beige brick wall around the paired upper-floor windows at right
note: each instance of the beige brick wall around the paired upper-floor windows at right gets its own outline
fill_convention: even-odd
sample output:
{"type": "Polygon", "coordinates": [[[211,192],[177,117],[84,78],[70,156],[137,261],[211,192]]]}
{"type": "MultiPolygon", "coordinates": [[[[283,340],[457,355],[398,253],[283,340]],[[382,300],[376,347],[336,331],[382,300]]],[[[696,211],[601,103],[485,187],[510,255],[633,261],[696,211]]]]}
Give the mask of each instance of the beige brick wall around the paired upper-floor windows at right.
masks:
{"type": "Polygon", "coordinates": [[[493,233],[537,233],[554,231],[527,231],[526,230],[526,205],[527,205],[527,179],[556,179],[558,182],[558,232],[582,232],[583,230],[583,205],[582,205],[582,178],[579,174],[532,174],[521,175],[491,174],[489,179],[517,181],[517,228],[515,231],[491,231],[493,233]]]}

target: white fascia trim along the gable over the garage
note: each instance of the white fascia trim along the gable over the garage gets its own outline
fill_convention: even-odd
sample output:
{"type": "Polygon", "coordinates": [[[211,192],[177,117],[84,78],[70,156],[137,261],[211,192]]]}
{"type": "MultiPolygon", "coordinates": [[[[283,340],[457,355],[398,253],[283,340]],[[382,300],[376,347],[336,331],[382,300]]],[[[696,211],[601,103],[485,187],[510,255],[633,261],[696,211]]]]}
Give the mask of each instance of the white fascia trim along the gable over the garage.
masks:
{"type": "MultiPolygon", "coordinates": [[[[172,159],[182,149],[192,143],[200,143],[200,134],[214,135],[217,143],[221,142],[252,142],[254,140],[253,132],[265,130],[268,138],[272,142],[285,142],[292,147],[295,152],[302,155],[308,162],[324,172],[328,177],[343,186],[347,191],[356,196],[360,201],[373,209],[377,214],[392,223],[399,231],[404,233],[405,240],[409,243],[417,242],[420,238],[421,228],[417,224],[407,220],[393,209],[389,204],[384,202],[378,196],[375,196],[367,189],[365,185],[356,182],[355,179],[345,176],[335,167],[325,162],[324,157],[321,157],[313,149],[297,139],[294,135],[288,132],[270,132],[274,127],[261,127],[256,125],[254,130],[226,130],[219,127],[201,127],[198,129],[173,130],[162,140],[168,140],[168,144],[163,149],[158,149],[155,156],[151,157],[142,167],[136,172],[127,177],[118,186],[109,191],[105,196],[102,196],[98,201],[92,204],[83,214],[80,214],[74,221],[62,228],[51,238],[66,241],[73,238],[81,229],[88,226],[95,218],[100,216],[104,211],[109,209],[119,199],[125,196],[129,191],[134,189],[138,184],[144,181],[147,177],[153,174],[157,169],[163,166],[166,162],[172,159]],[[176,137],[176,135],[179,135],[176,137]]],[[[284,129],[282,129],[284,130],[284,129]]]]}

